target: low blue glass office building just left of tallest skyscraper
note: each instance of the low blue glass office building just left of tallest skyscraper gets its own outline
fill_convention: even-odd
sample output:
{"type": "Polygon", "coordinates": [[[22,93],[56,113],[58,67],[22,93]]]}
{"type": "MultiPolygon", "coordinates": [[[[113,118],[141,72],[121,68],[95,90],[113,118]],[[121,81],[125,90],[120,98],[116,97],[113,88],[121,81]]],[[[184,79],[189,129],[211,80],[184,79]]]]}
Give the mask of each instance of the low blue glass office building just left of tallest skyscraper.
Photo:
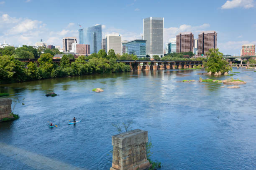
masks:
{"type": "Polygon", "coordinates": [[[137,57],[146,57],[146,40],[132,40],[123,43],[123,54],[133,54],[137,57]]]}

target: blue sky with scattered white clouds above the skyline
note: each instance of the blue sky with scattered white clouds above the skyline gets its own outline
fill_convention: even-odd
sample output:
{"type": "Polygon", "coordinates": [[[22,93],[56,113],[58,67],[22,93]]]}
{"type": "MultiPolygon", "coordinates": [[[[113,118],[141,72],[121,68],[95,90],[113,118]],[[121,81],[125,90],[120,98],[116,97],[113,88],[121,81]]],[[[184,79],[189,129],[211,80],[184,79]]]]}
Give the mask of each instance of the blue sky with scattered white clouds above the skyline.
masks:
{"type": "Polygon", "coordinates": [[[61,45],[78,38],[81,28],[102,25],[102,37],[141,38],[143,18],[164,18],[164,42],[179,32],[218,33],[220,52],[240,55],[243,44],[256,44],[256,0],[0,0],[0,43],[61,45]]]}

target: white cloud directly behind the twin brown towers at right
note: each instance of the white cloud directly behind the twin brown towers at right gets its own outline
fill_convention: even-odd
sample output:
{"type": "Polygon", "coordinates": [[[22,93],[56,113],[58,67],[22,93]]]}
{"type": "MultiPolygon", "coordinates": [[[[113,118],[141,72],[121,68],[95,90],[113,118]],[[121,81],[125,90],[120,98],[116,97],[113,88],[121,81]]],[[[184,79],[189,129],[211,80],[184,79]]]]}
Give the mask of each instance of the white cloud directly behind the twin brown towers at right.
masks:
{"type": "Polygon", "coordinates": [[[169,42],[169,38],[176,37],[176,35],[179,34],[180,32],[190,31],[194,35],[196,35],[209,27],[210,27],[210,24],[203,24],[199,26],[191,26],[191,25],[183,24],[183,25],[180,25],[179,28],[177,27],[164,28],[164,43],[169,42]]]}

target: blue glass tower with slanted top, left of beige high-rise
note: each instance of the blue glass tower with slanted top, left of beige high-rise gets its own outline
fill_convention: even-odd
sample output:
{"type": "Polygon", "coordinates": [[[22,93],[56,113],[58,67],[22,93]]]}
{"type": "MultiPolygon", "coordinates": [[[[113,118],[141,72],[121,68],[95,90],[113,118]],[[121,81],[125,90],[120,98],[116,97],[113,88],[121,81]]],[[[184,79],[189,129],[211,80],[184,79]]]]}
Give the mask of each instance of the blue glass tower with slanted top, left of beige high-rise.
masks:
{"type": "Polygon", "coordinates": [[[101,25],[95,25],[87,29],[87,43],[90,44],[90,51],[92,53],[97,53],[101,49],[101,25]]]}

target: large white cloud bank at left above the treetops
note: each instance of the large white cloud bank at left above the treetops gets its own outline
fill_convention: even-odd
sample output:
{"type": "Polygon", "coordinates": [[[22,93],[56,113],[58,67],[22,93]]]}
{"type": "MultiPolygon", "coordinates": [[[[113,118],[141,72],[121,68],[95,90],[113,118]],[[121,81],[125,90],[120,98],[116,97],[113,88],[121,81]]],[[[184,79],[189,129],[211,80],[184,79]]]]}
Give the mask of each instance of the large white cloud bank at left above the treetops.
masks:
{"type": "Polygon", "coordinates": [[[50,32],[42,21],[10,17],[8,14],[0,15],[0,40],[6,40],[15,46],[35,45],[41,38],[48,45],[61,45],[63,37],[77,37],[77,34],[77,30],[67,28],[50,32]]]}

